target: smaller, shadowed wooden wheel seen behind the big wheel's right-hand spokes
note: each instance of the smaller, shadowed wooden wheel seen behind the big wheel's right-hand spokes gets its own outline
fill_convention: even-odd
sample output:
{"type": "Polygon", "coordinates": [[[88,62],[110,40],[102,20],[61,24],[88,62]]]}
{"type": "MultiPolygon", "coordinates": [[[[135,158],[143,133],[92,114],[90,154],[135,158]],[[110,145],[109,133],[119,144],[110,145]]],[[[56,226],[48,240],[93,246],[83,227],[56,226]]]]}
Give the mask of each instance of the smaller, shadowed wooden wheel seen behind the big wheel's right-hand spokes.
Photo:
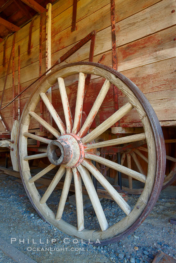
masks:
{"type": "MultiPolygon", "coordinates": [[[[165,143],[167,143],[167,140],[165,140],[165,143]]],[[[175,143],[175,140],[169,140],[169,143],[175,143]]],[[[136,164],[136,167],[138,168],[138,171],[142,174],[145,174],[143,171],[143,168],[138,160],[138,156],[141,157],[146,163],[148,163],[148,158],[143,154],[144,152],[148,153],[148,149],[146,147],[140,146],[136,149],[133,149],[132,151],[127,151],[121,154],[121,165],[124,164],[124,161],[126,159],[127,161],[127,167],[131,169],[131,161],[133,160],[136,164]]],[[[166,155],[166,160],[169,160],[173,162],[173,166],[171,168],[171,171],[169,174],[165,174],[165,179],[163,182],[162,189],[165,189],[167,186],[169,186],[171,183],[173,183],[176,179],[176,158],[166,155]]],[[[115,178],[115,184],[117,182],[117,176],[115,178]]],[[[129,187],[123,185],[122,188],[124,191],[127,191],[129,194],[140,194],[143,191],[142,184],[140,188],[135,188],[135,183],[131,177],[128,178],[128,184],[129,187]]]]}

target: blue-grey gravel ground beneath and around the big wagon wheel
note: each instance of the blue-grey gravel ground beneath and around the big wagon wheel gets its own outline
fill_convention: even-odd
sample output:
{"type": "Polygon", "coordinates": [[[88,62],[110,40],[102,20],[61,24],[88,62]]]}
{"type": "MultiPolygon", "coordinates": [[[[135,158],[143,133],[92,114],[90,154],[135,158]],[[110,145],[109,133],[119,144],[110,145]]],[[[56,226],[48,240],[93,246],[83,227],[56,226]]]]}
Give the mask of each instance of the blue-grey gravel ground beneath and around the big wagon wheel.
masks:
{"type": "MultiPolygon", "coordinates": [[[[176,187],[169,186],[161,192],[156,206],[133,234],[118,243],[95,247],[92,244],[81,244],[80,240],[74,244],[77,240],[73,237],[43,222],[31,205],[23,185],[15,180],[16,178],[10,176],[0,178],[0,237],[8,244],[11,243],[11,238],[16,238],[12,245],[38,263],[152,262],[160,250],[176,259],[176,226],[169,223],[170,218],[176,218],[176,187]],[[65,239],[68,244],[64,243],[64,238],[68,238],[65,239]],[[23,242],[19,244],[19,239],[24,239],[25,244],[23,242]],[[39,244],[40,239],[44,244],[39,244]],[[53,244],[51,244],[52,239],[56,239],[53,244]],[[52,251],[29,251],[36,247],[52,251]],[[56,248],[60,251],[54,251],[56,248]]],[[[43,194],[44,190],[40,189],[39,192],[43,194]]],[[[61,190],[57,190],[48,199],[48,205],[55,211],[60,195],[61,190]]],[[[128,203],[131,207],[137,198],[138,196],[129,196],[128,203]]],[[[117,221],[124,217],[114,201],[103,199],[101,204],[109,225],[114,218],[117,221]]],[[[65,210],[63,219],[69,218],[69,221],[76,225],[75,206],[67,202],[65,210]]],[[[84,215],[87,221],[86,228],[99,228],[97,219],[92,214],[92,208],[85,209],[84,215]]],[[[0,251],[0,262],[15,261],[0,251]]]]}

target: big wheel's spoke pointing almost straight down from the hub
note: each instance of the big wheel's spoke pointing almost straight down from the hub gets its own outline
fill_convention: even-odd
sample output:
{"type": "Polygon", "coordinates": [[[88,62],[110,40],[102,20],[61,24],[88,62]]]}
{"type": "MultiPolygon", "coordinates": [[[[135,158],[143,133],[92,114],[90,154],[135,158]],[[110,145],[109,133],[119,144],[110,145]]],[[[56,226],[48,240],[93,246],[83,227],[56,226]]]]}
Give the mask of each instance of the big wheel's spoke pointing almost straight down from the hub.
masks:
{"type": "Polygon", "coordinates": [[[84,229],[84,213],[81,176],[76,167],[73,167],[72,170],[74,175],[74,188],[76,197],[77,228],[78,231],[82,231],[84,229]]]}

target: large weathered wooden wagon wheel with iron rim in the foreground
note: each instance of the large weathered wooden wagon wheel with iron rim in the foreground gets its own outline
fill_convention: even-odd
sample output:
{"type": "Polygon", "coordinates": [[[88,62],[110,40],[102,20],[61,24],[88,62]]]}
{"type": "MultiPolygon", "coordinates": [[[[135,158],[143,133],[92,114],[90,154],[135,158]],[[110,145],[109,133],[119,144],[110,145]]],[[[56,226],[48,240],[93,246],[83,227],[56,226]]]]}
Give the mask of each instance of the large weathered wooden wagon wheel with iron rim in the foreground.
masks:
{"type": "Polygon", "coordinates": [[[143,93],[137,88],[137,86],[124,75],[104,65],[90,62],[72,63],[58,68],[52,73],[48,74],[36,86],[34,92],[29,98],[29,101],[25,105],[20,120],[18,140],[18,160],[20,174],[30,201],[32,202],[36,211],[45,221],[56,226],[58,229],[68,235],[73,235],[75,237],[94,242],[99,239],[101,244],[108,244],[110,242],[117,241],[125,235],[129,235],[142,223],[147,214],[151,211],[159,196],[165,172],[165,145],[159,121],[150,103],[147,101],[143,93]],[[79,82],[77,98],[75,98],[76,108],[74,121],[72,121],[64,81],[67,76],[70,78],[70,76],[75,74],[79,74],[79,82]],[[93,74],[95,76],[103,77],[105,78],[105,81],[96,101],[92,106],[92,109],[87,116],[87,119],[81,127],[84,82],[86,74],[93,74]],[[56,112],[45,95],[47,89],[55,84],[56,81],[58,81],[59,84],[66,127],[61,121],[58,115],[59,113],[56,112]],[[128,102],[98,127],[88,133],[89,128],[103,103],[111,83],[117,86],[124,93],[128,102]],[[47,106],[47,109],[56,122],[58,129],[50,126],[47,122],[41,119],[38,114],[34,113],[40,98],[42,98],[43,102],[47,106]],[[115,162],[111,162],[106,158],[100,157],[96,155],[95,151],[95,149],[100,147],[122,143],[121,138],[106,140],[99,143],[95,143],[94,140],[104,131],[110,128],[115,122],[121,119],[125,114],[128,114],[131,110],[136,110],[136,112],[139,114],[145,132],[134,136],[124,137],[123,143],[146,139],[149,153],[147,176],[128,169],[125,166],[121,166],[115,162]],[[31,116],[53,134],[53,140],[35,136],[28,132],[31,116]],[[36,156],[28,156],[28,137],[39,140],[48,145],[47,153],[38,154],[37,157],[40,158],[47,156],[51,162],[49,166],[40,171],[34,177],[31,177],[28,160],[36,158],[36,156]],[[61,153],[60,157],[58,157],[57,154],[58,150],[61,153]],[[132,178],[144,182],[144,190],[136,203],[130,206],[96,169],[91,160],[94,160],[99,164],[105,164],[112,169],[119,170],[132,178]],[[34,182],[56,166],[58,166],[56,175],[52,179],[51,184],[43,196],[40,196],[34,182]],[[49,204],[47,205],[47,200],[65,173],[65,182],[60,200],[58,197],[58,209],[56,213],[54,213],[52,209],[50,209],[49,204]],[[108,222],[106,219],[108,218],[108,212],[106,209],[102,209],[103,204],[100,203],[90,174],[95,176],[97,181],[102,185],[103,188],[106,189],[106,191],[115,201],[115,208],[119,211],[120,216],[114,215],[113,224],[109,224],[110,222],[108,222]],[[65,221],[62,219],[63,214],[65,213],[64,206],[72,177],[74,177],[77,209],[77,222],[74,225],[68,223],[68,216],[65,217],[65,221]],[[97,216],[97,221],[99,223],[97,229],[94,229],[94,227],[92,229],[90,229],[90,227],[89,229],[85,229],[87,219],[85,219],[83,211],[81,179],[83,180],[84,186],[88,192],[89,198],[97,216]],[[67,219],[68,221],[66,222],[67,219]]]}

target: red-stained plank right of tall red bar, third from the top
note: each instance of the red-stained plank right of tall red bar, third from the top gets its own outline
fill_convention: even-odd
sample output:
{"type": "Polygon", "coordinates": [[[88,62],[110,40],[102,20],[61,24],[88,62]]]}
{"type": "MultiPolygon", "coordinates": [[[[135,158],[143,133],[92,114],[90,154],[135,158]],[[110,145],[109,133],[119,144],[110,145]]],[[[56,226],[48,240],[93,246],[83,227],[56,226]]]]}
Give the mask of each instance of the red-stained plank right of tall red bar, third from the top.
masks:
{"type": "MultiPolygon", "coordinates": [[[[120,71],[129,70],[130,68],[175,57],[176,53],[174,50],[176,43],[173,40],[175,31],[176,26],[172,26],[148,37],[119,47],[117,49],[118,69],[120,71]]],[[[151,68],[150,71],[151,70],[155,70],[155,68],[151,68]]],[[[165,69],[162,71],[164,70],[165,69]]],[[[133,78],[134,77],[135,76],[133,76],[133,78]]]]}

